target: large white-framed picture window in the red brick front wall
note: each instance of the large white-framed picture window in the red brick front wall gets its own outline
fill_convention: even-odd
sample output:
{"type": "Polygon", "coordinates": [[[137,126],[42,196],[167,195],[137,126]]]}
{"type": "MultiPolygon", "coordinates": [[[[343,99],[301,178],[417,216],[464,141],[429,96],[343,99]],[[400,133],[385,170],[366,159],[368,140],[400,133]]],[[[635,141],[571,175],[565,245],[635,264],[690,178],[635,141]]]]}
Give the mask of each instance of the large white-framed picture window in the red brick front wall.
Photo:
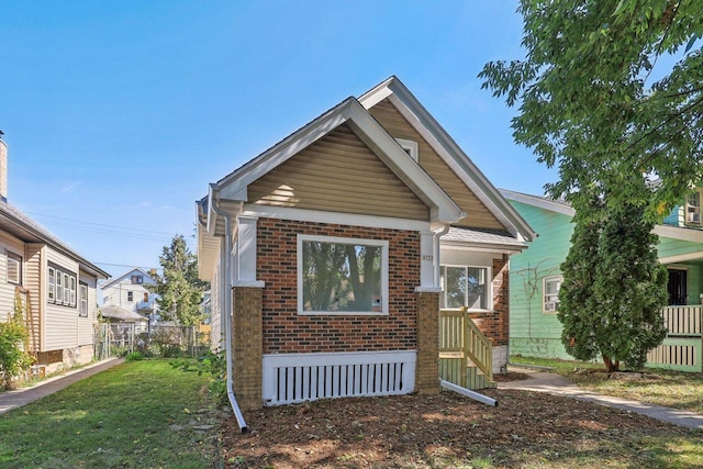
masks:
{"type": "Polygon", "coordinates": [[[388,314],[388,242],[298,236],[301,314],[388,314]]]}

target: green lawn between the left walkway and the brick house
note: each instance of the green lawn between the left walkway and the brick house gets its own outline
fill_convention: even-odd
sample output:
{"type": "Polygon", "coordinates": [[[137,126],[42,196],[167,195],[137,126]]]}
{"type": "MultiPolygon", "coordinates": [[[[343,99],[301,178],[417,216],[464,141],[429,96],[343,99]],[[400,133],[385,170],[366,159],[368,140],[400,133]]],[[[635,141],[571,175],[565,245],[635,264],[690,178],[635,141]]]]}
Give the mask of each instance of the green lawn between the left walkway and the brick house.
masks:
{"type": "Polygon", "coordinates": [[[0,467],[211,467],[205,386],[163,360],[119,365],[0,415],[0,467]]]}

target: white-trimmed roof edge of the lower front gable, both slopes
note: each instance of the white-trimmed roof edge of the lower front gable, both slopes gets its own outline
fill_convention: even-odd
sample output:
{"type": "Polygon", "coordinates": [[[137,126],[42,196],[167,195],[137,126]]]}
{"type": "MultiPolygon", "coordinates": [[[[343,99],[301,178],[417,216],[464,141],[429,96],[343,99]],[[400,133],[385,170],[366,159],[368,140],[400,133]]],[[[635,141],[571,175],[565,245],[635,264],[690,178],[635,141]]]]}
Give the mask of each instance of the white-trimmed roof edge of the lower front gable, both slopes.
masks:
{"type": "MultiPolygon", "coordinates": [[[[402,149],[399,143],[359,104],[347,98],[314,121],[289,135],[241,168],[211,185],[208,197],[209,233],[214,232],[216,213],[212,211],[214,197],[246,202],[247,187],[277,168],[302,149],[317,142],[341,124],[346,123],[355,134],[398,176],[427,206],[432,221],[451,223],[462,216],[461,209],[447,193],[402,149]]],[[[204,208],[204,203],[201,202],[204,208]]]]}

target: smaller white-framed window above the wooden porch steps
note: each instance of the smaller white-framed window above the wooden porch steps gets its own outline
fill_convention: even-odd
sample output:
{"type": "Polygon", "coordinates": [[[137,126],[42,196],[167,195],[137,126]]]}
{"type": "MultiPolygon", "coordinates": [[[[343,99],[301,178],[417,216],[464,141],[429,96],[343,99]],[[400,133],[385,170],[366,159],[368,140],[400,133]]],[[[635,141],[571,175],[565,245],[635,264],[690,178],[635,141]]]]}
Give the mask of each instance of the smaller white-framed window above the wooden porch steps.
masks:
{"type": "Polygon", "coordinates": [[[442,266],[439,308],[489,309],[488,267],[442,266]]]}

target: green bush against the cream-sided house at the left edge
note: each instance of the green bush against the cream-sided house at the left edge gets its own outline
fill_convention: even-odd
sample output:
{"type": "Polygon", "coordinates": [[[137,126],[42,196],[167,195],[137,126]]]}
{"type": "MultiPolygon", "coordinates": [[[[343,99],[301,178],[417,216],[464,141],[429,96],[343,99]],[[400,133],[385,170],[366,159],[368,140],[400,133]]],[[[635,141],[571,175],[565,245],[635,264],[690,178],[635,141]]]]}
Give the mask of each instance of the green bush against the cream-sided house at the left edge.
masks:
{"type": "Polygon", "coordinates": [[[23,306],[18,297],[14,313],[8,314],[8,322],[0,323],[0,384],[4,389],[12,389],[14,377],[32,366],[32,356],[22,346],[27,338],[23,306]]]}

